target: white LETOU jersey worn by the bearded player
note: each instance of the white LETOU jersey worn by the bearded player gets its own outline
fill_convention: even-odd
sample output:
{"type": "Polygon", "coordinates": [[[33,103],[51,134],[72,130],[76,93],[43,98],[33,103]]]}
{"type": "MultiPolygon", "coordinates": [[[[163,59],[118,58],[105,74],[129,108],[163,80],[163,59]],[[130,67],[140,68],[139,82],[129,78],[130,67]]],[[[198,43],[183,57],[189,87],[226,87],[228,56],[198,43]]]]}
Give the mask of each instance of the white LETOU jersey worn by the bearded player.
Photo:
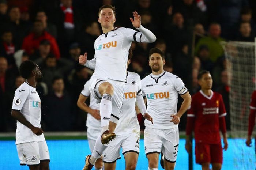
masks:
{"type": "Polygon", "coordinates": [[[178,94],[188,90],[176,75],[164,71],[157,79],[150,74],[142,80],[143,98],[147,98],[147,111],[154,124],[145,120],[145,126],[154,129],[171,129],[178,125],[170,122],[170,115],[177,113],[178,94]]]}

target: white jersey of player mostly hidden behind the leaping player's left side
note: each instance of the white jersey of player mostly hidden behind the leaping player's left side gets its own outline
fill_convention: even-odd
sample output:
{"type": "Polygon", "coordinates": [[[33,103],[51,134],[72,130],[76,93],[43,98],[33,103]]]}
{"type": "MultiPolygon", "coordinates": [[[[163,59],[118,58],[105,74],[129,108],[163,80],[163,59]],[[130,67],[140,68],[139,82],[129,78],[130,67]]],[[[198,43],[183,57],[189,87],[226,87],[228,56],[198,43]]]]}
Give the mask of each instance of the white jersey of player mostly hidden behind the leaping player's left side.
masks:
{"type": "MultiPolygon", "coordinates": [[[[90,105],[89,107],[91,107],[91,109],[98,109],[99,110],[99,103],[97,104],[95,101],[95,98],[93,97],[93,95],[91,95],[90,93],[90,80],[88,80],[85,84],[84,84],[84,88],[81,91],[81,94],[89,97],[90,96],[90,105]]],[[[91,114],[87,114],[87,120],[86,120],[86,126],[88,128],[91,129],[100,129],[101,128],[101,120],[97,120],[95,119],[93,116],[91,116],[91,114]]]]}

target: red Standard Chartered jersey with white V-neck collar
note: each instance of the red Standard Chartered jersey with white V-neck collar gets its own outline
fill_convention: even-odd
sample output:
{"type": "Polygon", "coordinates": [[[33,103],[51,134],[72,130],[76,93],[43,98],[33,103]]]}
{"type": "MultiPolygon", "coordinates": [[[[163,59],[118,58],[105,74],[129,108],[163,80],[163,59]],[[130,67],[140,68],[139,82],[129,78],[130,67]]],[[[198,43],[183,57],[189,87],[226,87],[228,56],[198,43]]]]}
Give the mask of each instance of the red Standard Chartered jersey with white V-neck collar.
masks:
{"type": "Polygon", "coordinates": [[[200,90],[193,95],[187,116],[195,117],[196,143],[221,143],[219,117],[226,114],[221,94],[212,91],[211,96],[207,96],[200,90]]]}

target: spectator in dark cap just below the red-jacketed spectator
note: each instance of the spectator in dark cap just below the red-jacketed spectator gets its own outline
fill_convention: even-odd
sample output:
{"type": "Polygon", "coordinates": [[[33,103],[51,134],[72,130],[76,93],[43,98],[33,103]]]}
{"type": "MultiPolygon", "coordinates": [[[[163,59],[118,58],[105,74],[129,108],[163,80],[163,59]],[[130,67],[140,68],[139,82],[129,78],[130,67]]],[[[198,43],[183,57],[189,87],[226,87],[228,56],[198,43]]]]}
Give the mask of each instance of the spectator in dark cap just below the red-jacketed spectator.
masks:
{"type": "Polygon", "coordinates": [[[30,60],[35,61],[35,63],[39,63],[44,60],[51,51],[51,43],[47,39],[43,39],[40,41],[39,48],[30,56],[30,60]]]}

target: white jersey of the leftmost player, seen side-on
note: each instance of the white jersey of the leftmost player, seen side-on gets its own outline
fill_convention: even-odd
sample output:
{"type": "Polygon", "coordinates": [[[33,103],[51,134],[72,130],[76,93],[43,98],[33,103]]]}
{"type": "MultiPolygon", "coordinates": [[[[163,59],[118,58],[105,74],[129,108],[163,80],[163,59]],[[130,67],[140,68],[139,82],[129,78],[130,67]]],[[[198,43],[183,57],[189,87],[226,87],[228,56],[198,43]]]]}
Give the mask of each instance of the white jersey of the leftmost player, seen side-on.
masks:
{"type": "MultiPolygon", "coordinates": [[[[29,83],[24,82],[16,89],[12,109],[19,110],[33,126],[41,128],[41,99],[37,90],[29,83]]],[[[17,121],[15,144],[44,140],[44,133],[37,136],[27,126],[17,121]]]]}

